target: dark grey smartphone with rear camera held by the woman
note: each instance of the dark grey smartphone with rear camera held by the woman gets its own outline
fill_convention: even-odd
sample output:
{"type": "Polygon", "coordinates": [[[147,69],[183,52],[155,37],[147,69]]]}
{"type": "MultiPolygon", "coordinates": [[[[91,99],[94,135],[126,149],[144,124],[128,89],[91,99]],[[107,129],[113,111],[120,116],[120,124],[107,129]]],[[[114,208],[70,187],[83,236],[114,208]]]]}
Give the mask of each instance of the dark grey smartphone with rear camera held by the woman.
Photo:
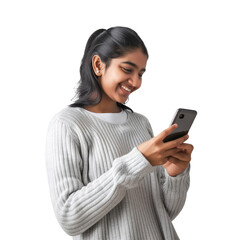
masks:
{"type": "Polygon", "coordinates": [[[184,108],[177,109],[171,125],[177,123],[178,128],[176,128],[172,133],[164,138],[163,142],[169,142],[185,136],[189,132],[189,129],[191,128],[196,115],[197,111],[195,110],[184,108]]]}

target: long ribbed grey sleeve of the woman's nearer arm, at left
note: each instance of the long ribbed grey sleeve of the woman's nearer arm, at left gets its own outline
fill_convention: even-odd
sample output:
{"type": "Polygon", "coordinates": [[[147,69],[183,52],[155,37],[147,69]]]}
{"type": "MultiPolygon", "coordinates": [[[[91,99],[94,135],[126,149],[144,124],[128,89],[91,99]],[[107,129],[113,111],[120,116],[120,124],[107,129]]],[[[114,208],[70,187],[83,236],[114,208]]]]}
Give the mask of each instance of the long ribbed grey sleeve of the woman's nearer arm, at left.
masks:
{"type": "Polygon", "coordinates": [[[113,161],[112,167],[86,186],[82,181],[82,154],[78,140],[61,120],[50,125],[46,165],[55,215],[64,231],[78,235],[113,209],[153,167],[133,148],[113,161]]]}

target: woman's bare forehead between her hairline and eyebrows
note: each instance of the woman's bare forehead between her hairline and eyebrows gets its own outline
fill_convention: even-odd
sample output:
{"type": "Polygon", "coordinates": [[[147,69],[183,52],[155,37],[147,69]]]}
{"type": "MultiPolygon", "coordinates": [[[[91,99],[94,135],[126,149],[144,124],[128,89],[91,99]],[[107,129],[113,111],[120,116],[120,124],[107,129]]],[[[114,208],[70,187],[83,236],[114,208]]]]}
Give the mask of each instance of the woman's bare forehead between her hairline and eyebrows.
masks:
{"type": "Polygon", "coordinates": [[[141,49],[137,49],[125,54],[124,56],[112,59],[112,63],[115,64],[124,62],[132,62],[136,64],[140,69],[143,69],[146,67],[147,55],[145,55],[141,49]]]}

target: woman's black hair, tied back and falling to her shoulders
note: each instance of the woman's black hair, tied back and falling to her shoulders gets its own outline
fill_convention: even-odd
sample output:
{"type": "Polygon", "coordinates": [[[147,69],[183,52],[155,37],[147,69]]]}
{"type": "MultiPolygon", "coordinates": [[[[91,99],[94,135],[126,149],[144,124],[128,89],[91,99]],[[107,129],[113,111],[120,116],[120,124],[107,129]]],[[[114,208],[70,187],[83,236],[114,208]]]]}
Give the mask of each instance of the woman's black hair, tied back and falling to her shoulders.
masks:
{"type": "MultiPolygon", "coordinates": [[[[95,31],[87,41],[84,55],[80,66],[80,80],[76,89],[76,100],[70,107],[83,107],[96,105],[101,101],[102,89],[99,79],[92,67],[92,58],[98,55],[106,69],[113,58],[124,56],[125,54],[140,48],[148,58],[145,44],[138,34],[127,27],[112,27],[109,29],[99,29],[95,31]]],[[[125,104],[117,102],[122,109],[129,109],[125,104]]]]}

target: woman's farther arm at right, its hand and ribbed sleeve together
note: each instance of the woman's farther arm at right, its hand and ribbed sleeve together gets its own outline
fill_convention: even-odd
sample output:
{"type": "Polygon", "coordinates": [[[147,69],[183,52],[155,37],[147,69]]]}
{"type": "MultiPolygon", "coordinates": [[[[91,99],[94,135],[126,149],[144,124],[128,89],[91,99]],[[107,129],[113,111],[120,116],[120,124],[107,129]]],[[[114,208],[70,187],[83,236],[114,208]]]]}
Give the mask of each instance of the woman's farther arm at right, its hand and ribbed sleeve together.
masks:
{"type": "MultiPolygon", "coordinates": [[[[151,137],[153,137],[153,130],[149,121],[148,131],[151,137]]],[[[161,139],[163,138],[164,136],[161,139]]],[[[178,152],[173,152],[170,156],[168,155],[163,166],[158,166],[164,207],[172,220],[180,213],[186,200],[190,182],[189,162],[193,151],[193,146],[185,143],[178,144],[176,148],[178,152]]]]}

